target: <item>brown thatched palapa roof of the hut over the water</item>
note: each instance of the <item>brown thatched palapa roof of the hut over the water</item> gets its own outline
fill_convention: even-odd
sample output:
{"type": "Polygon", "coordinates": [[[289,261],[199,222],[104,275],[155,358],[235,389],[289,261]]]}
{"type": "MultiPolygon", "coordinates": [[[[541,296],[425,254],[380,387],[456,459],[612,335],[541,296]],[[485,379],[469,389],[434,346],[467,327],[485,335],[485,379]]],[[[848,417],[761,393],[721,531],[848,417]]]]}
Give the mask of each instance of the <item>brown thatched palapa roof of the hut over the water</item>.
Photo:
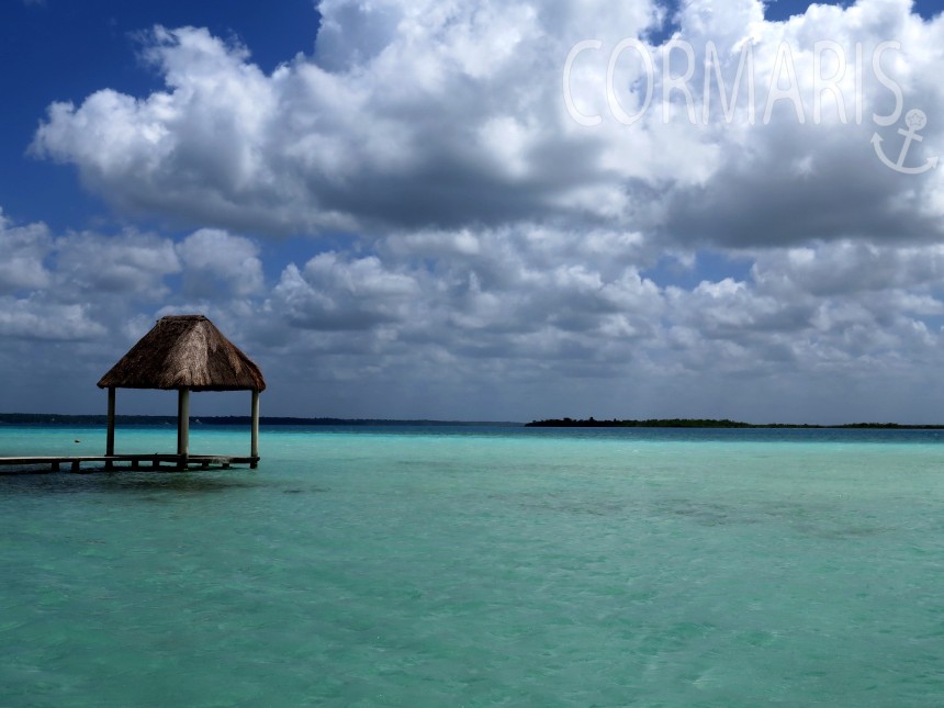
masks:
{"type": "Polygon", "coordinates": [[[161,317],[111,368],[100,389],[263,391],[259,367],[203,315],[161,317]]]}

